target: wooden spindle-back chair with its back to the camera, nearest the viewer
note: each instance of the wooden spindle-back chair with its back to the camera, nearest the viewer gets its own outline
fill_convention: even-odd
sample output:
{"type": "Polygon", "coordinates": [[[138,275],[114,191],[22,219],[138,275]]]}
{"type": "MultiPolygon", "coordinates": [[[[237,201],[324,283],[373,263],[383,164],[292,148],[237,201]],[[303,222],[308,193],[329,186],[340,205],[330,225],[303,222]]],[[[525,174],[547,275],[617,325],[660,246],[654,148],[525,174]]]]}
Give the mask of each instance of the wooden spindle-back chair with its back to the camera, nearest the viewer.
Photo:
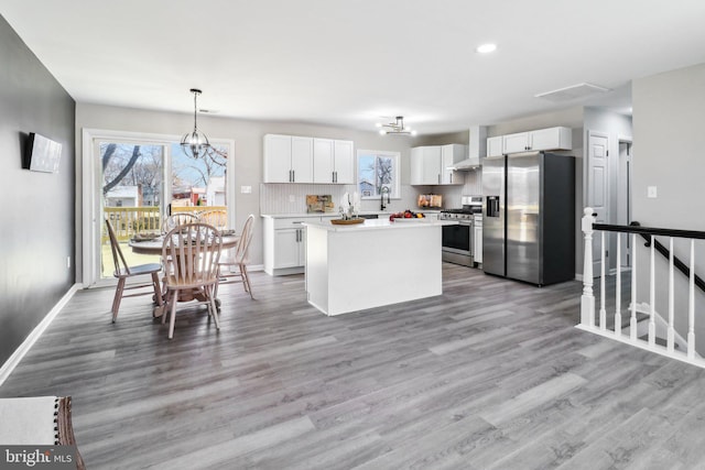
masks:
{"type": "MultiPolygon", "coordinates": [[[[164,276],[170,311],[169,339],[174,337],[178,300],[194,299],[206,304],[216,329],[220,329],[214,291],[218,283],[221,249],[220,232],[207,223],[186,223],[172,229],[164,237],[162,259],[169,260],[164,276]]],[[[165,320],[166,316],[163,316],[162,324],[165,320]]]]}

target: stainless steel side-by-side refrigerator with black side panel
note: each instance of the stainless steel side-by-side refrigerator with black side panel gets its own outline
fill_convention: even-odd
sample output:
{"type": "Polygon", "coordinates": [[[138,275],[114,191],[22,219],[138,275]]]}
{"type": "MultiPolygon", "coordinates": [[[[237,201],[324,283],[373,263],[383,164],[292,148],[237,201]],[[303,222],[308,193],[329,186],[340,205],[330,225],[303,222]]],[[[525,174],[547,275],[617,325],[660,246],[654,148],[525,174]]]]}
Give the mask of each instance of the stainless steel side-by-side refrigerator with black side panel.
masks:
{"type": "Polygon", "coordinates": [[[482,163],[482,269],[536,285],[575,278],[575,159],[546,152],[482,163]]]}

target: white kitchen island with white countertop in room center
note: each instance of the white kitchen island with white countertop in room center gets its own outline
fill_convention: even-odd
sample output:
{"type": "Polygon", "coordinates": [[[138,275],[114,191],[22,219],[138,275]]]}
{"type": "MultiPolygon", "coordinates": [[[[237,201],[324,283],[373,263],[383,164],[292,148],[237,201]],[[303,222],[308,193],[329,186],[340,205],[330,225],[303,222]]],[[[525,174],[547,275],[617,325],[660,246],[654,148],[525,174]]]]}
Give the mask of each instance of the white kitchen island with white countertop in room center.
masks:
{"type": "Polygon", "coordinates": [[[304,222],[308,303],[326,315],[340,315],[441,295],[441,228],[455,223],[304,222]]]}

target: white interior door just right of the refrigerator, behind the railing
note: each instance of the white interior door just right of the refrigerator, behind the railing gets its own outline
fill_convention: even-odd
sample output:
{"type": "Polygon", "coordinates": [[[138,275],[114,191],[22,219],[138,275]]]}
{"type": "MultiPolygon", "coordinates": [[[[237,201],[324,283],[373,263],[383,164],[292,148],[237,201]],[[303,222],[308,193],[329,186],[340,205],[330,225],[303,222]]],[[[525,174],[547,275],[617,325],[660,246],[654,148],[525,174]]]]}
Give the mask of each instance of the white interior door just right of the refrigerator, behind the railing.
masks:
{"type": "MultiPolygon", "coordinates": [[[[596,214],[597,223],[609,220],[609,136],[604,132],[587,131],[587,205],[596,214]]],[[[607,247],[607,239],[605,240],[607,247]]],[[[593,239],[593,274],[600,274],[600,236],[593,239]]],[[[607,248],[606,248],[607,249],[607,248]]],[[[605,259],[605,269],[609,261],[605,259]]]]}

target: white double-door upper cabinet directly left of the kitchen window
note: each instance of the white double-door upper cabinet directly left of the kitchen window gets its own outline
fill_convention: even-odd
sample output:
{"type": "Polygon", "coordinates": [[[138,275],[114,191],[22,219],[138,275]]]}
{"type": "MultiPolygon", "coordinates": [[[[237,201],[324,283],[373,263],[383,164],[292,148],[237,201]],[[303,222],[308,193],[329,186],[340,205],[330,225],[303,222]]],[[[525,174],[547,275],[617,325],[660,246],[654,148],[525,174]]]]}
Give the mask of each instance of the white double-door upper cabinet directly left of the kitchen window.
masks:
{"type": "Polygon", "coordinates": [[[355,184],[352,141],[313,140],[314,183],[355,184]]]}

